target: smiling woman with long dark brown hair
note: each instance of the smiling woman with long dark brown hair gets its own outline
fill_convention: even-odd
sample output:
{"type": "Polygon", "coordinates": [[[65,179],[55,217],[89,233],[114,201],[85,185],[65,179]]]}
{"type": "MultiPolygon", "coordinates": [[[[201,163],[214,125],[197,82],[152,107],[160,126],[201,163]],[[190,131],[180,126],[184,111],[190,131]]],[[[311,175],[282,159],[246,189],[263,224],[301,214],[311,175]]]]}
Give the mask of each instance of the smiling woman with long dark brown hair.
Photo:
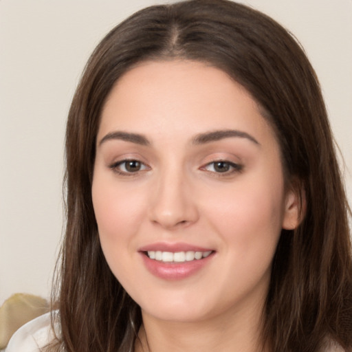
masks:
{"type": "Polygon", "coordinates": [[[134,14],[89,59],[66,157],[49,351],[351,351],[327,113],[272,19],[225,0],[134,14]]]}

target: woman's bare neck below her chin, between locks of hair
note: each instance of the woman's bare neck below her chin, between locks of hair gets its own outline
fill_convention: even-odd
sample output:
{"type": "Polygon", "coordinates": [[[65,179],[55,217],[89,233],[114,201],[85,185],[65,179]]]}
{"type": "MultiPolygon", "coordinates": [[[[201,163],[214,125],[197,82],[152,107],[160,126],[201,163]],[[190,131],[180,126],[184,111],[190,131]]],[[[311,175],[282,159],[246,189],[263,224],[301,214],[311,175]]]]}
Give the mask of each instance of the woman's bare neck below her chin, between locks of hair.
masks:
{"type": "Polygon", "coordinates": [[[197,322],[158,320],[142,311],[143,325],[135,352],[258,352],[261,347],[261,312],[227,311],[197,322]]]}

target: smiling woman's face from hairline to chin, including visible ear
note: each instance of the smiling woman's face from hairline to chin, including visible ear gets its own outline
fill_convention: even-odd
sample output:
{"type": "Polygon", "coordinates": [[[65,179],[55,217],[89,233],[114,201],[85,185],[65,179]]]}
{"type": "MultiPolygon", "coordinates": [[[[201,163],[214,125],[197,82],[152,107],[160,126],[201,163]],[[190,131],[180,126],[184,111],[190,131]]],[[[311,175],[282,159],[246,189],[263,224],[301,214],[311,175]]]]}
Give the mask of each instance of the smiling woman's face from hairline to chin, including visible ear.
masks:
{"type": "Polygon", "coordinates": [[[111,271],[162,320],[260,311],[281,229],[297,225],[256,102],[191,61],[142,63],[113,87],[92,196],[111,271]]]}

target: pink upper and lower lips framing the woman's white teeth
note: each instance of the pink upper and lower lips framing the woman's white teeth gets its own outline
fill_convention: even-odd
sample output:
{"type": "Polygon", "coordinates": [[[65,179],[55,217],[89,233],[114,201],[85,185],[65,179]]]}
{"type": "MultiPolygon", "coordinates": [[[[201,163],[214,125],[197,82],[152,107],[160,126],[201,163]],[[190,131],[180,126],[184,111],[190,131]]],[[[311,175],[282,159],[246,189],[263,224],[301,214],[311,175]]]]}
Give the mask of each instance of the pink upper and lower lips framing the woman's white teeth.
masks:
{"type": "Polygon", "coordinates": [[[203,267],[208,265],[210,261],[214,258],[215,251],[212,250],[212,253],[206,258],[194,260],[194,261],[185,261],[182,263],[164,263],[162,261],[155,261],[155,259],[150,259],[145,252],[148,251],[162,251],[162,252],[208,252],[212,250],[211,248],[202,248],[196,245],[190,245],[188,243],[154,243],[151,245],[146,245],[138,251],[142,257],[143,263],[153,276],[157,278],[162,278],[163,280],[168,281],[177,281],[184,278],[189,278],[192,275],[200,272],[203,267]]]}

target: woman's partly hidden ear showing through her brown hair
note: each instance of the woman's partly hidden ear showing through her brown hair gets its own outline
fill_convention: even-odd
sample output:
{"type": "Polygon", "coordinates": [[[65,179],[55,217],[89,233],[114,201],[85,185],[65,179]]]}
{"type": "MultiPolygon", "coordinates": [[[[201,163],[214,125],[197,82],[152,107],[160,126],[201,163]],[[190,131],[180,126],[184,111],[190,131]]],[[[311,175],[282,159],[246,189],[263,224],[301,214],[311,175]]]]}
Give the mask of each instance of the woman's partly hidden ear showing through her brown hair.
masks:
{"type": "Polygon", "coordinates": [[[305,217],[305,191],[301,186],[289,188],[285,197],[285,212],[283,214],[283,229],[294,230],[305,217]]]}

